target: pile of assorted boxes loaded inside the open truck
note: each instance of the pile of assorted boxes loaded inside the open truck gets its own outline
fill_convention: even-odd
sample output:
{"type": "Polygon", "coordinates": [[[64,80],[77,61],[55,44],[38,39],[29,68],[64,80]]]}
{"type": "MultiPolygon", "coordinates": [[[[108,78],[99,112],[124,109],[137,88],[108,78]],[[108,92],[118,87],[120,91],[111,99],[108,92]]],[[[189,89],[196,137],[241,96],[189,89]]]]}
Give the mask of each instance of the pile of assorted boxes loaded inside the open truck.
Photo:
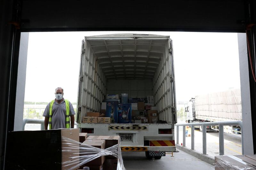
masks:
{"type": "Polygon", "coordinates": [[[156,123],[157,107],[154,97],[128,98],[128,93],[120,95],[108,94],[101,104],[100,112],[87,112],[82,123],[156,123]],[[128,109],[130,108],[130,109],[128,109]],[[113,115],[113,118],[111,118],[113,115]]]}

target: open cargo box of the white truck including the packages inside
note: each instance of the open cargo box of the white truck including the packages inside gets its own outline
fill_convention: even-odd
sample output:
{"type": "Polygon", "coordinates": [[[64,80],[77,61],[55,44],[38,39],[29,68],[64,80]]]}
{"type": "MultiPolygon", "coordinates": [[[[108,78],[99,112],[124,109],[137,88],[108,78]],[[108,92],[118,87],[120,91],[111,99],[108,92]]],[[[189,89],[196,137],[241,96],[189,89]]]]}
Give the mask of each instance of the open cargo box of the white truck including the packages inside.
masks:
{"type": "Polygon", "coordinates": [[[174,91],[170,83],[173,81],[170,59],[169,36],[85,37],[78,122],[172,123],[174,91]]]}

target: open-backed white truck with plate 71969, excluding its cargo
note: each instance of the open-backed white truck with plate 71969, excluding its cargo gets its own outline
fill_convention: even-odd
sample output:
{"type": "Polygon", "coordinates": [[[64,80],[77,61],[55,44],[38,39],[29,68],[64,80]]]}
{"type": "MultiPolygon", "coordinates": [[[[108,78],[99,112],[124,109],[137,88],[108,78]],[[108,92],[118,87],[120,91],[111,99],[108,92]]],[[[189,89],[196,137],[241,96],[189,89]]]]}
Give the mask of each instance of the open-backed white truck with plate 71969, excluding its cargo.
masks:
{"type": "Polygon", "coordinates": [[[175,151],[176,118],[172,41],[169,36],[113,34],[82,41],[77,99],[78,127],[88,135],[120,135],[122,151],[145,151],[161,158],[175,151]],[[87,112],[99,112],[106,94],[154,96],[165,124],[82,123],[87,112]]]}

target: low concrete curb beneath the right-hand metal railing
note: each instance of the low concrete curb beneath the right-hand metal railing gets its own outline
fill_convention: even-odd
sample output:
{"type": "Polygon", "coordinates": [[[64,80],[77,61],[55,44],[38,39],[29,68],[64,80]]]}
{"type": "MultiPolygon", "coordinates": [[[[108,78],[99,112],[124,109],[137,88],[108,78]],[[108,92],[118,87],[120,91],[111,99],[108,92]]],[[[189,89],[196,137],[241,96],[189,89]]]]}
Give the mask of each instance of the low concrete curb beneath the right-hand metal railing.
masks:
{"type": "Polygon", "coordinates": [[[214,163],[214,158],[209,155],[203,155],[202,153],[199,153],[197,151],[191,151],[189,148],[183,147],[179,144],[175,144],[175,147],[181,151],[184,151],[184,152],[196,157],[196,158],[201,159],[204,162],[207,162],[208,164],[212,165],[214,163]]]}

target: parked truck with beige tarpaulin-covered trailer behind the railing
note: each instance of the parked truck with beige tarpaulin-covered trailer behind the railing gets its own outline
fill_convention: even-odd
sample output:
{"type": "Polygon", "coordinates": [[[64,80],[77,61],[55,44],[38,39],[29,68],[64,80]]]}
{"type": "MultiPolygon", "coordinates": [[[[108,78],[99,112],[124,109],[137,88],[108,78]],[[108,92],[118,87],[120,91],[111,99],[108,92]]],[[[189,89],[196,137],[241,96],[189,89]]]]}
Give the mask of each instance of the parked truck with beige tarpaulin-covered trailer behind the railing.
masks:
{"type": "MultiPolygon", "coordinates": [[[[242,120],[241,90],[230,89],[198,95],[189,100],[185,112],[189,123],[242,120]]],[[[202,131],[201,126],[197,128],[202,131]]],[[[211,129],[218,130],[218,127],[206,128],[207,131],[211,129]]]]}

